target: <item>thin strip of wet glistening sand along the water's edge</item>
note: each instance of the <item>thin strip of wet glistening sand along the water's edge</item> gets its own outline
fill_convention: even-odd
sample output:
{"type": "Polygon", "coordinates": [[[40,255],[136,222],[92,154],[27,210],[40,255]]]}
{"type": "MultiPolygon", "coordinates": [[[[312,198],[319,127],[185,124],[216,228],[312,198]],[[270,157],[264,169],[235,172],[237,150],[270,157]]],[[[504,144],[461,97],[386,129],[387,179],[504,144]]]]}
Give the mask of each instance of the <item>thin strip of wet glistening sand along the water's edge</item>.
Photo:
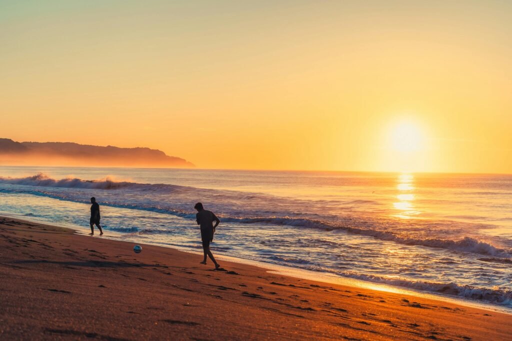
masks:
{"type": "MultiPolygon", "coordinates": [[[[13,214],[7,214],[2,213],[0,215],[0,218],[12,218],[20,221],[26,221],[26,222],[32,222],[32,223],[38,223],[38,224],[53,224],[55,226],[58,226],[60,228],[69,229],[74,231],[76,235],[80,236],[87,236],[87,231],[81,231],[81,226],[70,226],[69,224],[59,224],[59,223],[49,223],[44,220],[38,220],[38,219],[26,219],[25,217],[20,217],[13,214]]],[[[96,231],[97,232],[97,231],[96,231]]],[[[115,232],[115,231],[108,231],[106,235],[102,236],[104,239],[110,239],[110,240],[116,240],[126,243],[139,243],[142,245],[153,245],[158,247],[164,247],[169,249],[174,249],[179,252],[189,253],[189,254],[196,254],[196,255],[202,255],[202,252],[198,249],[198,251],[195,251],[191,248],[186,247],[179,247],[176,245],[164,245],[158,242],[140,242],[140,241],[130,241],[130,240],[122,240],[118,237],[123,237],[122,233],[115,232]],[[112,234],[113,236],[109,236],[109,234],[112,234]],[[117,237],[118,236],[118,237],[117,237]]],[[[434,293],[432,291],[428,290],[420,290],[420,289],[413,289],[408,287],[401,287],[401,286],[393,286],[390,284],[383,284],[383,283],[377,283],[377,282],[370,282],[365,281],[361,279],[354,279],[349,277],[343,277],[335,274],[330,274],[329,272],[322,272],[322,271],[313,271],[313,270],[307,270],[300,267],[293,267],[293,266],[287,266],[287,265],[281,265],[281,264],[273,264],[269,262],[259,261],[259,260],[252,260],[247,258],[241,258],[241,257],[235,257],[235,256],[229,256],[222,253],[215,252],[215,257],[218,260],[227,260],[229,262],[233,263],[239,263],[239,264],[246,264],[251,266],[257,266],[262,269],[268,270],[269,272],[274,272],[275,274],[285,275],[289,277],[294,277],[297,279],[303,279],[303,280],[313,280],[328,284],[339,284],[344,286],[350,286],[350,287],[357,287],[357,288],[370,288],[373,290],[378,291],[386,291],[386,292],[395,292],[395,293],[401,293],[409,296],[414,297],[420,297],[420,298],[426,298],[430,300],[437,300],[442,302],[448,302],[452,304],[477,308],[477,309],[483,309],[488,311],[494,311],[494,312],[500,312],[505,314],[512,315],[512,308],[508,308],[506,306],[501,306],[499,304],[494,304],[492,302],[488,301],[479,301],[476,299],[471,298],[465,298],[460,297],[458,295],[449,295],[449,294],[442,294],[442,293],[434,293]]]]}

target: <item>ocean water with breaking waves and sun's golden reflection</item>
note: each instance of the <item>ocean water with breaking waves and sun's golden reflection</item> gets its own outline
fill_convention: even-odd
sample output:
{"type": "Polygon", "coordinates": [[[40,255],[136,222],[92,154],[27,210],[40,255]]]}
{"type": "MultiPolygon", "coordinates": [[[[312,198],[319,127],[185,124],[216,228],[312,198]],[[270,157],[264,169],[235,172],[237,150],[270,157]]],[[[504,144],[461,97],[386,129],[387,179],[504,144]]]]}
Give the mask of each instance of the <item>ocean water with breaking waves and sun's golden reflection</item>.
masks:
{"type": "MultiPolygon", "coordinates": [[[[512,175],[0,167],[0,214],[512,308],[512,175]]],[[[97,232],[96,232],[97,233],[97,232]]]]}

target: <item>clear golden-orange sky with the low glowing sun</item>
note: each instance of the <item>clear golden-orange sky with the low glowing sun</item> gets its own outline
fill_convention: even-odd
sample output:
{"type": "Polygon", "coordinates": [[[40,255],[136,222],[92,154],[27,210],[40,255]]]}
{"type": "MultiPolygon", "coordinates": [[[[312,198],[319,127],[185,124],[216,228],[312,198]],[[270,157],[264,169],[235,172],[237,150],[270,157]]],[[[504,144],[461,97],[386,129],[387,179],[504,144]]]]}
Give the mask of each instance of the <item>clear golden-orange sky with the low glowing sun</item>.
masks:
{"type": "Polygon", "coordinates": [[[497,0],[0,0],[0,137],[512,173],[510,37],[497,0]]]}

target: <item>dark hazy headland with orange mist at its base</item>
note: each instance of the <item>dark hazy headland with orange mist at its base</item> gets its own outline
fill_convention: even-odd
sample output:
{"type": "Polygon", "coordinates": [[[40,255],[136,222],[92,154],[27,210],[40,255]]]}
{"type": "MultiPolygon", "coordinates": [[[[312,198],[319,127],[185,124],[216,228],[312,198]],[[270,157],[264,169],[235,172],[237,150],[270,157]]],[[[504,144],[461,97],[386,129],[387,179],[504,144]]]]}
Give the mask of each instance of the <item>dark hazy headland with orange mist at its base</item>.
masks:
{"type": "Polygon", "coordinates": [[[0,163],[8,165],[195,167],[150,148],[80,145],[72,142],[15,142],[0,139],[0,163]]]}

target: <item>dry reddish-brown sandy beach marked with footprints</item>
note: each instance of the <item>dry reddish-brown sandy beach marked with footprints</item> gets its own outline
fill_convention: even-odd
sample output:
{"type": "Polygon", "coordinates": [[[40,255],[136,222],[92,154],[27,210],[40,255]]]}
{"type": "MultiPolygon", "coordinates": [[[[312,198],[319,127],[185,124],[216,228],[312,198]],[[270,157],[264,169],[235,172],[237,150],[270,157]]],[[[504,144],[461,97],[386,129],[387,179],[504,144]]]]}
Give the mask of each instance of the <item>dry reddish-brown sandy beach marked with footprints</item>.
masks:
{"type": "Polygon", "coordinates": [[[505,340],[512,316],[0,218],[0,339],[505,340]]]}

